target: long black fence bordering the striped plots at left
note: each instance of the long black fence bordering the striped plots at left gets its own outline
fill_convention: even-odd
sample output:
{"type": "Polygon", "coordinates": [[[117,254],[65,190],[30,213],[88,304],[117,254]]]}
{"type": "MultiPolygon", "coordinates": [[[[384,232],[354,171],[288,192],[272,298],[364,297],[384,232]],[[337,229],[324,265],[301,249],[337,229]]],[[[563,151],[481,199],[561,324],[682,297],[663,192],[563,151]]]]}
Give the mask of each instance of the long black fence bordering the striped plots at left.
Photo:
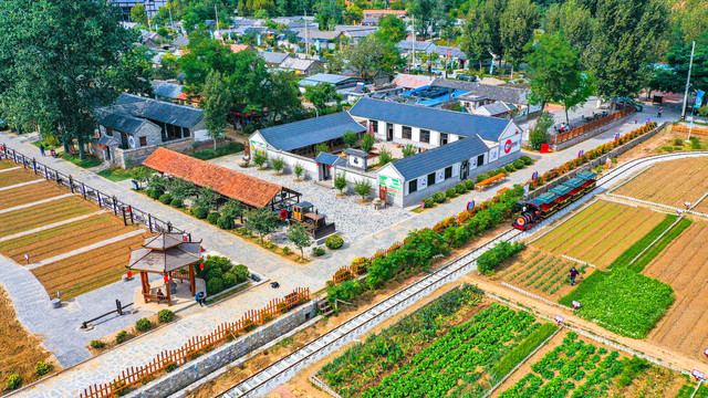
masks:
{"type": "Polygon", "coordinates": [[[34,158],[24,156],[19,151],[9,148],[4,144],[0,146],[0,159],[12,160],[15,164],[22,165],[24,169],[30,169],[38,176],[41,175],[48,181],[54,181],[59,186],[71,189],[72,193],[81,195],[85,200],[92,201],[98,205],[98,207],[112,211],[116,217],[122,217],[123,223],[126,226],[138,223],[147,227],[150,232],[185,233],[185,231],[175,228],[169,221],[163,221],[148,212],[118,200],[113,195],[104,193],[85,185],[84,182],[75,180],[71,175],[65,175],[43,165],[34,158]]]}

